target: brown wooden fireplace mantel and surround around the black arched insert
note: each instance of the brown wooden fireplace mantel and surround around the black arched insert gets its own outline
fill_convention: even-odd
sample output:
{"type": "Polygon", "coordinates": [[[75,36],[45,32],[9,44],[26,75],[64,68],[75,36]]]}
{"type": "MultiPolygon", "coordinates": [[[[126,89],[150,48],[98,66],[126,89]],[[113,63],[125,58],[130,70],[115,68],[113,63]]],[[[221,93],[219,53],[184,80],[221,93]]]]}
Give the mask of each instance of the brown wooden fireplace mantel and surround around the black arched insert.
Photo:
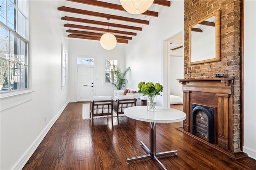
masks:
{"type": "Polygon", "coordinates": [[[182,84],[183,111],[187,115],[184,131],[192,134],[192,103],[214,107],[214,146],[233,152],[233,79],[177,80],[182,84]]]}

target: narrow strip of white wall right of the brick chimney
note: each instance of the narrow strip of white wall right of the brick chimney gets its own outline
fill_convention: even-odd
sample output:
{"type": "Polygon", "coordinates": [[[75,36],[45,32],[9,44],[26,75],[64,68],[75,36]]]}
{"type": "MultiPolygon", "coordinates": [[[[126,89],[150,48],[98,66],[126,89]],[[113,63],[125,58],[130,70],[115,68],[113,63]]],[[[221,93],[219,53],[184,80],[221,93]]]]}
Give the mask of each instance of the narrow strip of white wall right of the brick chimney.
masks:
{"type": "Polygon", "coordinates": [[[244,146],[256,159],[256,1],[244,1],[244,146]]]}

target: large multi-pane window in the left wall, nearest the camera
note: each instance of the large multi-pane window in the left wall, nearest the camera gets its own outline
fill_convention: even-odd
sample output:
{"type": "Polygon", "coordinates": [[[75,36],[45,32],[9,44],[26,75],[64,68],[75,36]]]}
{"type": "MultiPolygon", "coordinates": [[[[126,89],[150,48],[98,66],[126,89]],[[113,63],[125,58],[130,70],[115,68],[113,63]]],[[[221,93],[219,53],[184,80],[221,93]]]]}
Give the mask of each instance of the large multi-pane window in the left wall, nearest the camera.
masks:
{"type": "Polygon", "coordinates": [[[0,92],[28,89],[28,1],[0,0],[0,92]]]}

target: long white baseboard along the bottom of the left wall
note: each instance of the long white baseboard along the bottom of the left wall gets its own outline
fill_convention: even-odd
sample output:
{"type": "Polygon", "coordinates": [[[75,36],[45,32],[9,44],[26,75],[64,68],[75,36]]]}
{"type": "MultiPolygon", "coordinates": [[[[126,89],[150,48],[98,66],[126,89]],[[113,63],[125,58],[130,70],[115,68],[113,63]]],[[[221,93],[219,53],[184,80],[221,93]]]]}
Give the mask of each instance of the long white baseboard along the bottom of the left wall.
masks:
{"type": "Polygon", "coordinates": [[[66,106],[70,103],[70,101],[67,101],[63,107],[60,109],[58,114],[48,123],[48,125],[44,128],[42,133],[36,138],[34,143],[26,150],[26,152],[21,156],[21,158],[17,161],[17,163],[12,167],[13,170],[21,170],[25,164],[28,162],[29,158],[32,156],[32,154],[35,152],[36,148],[39,146],[39,144],[42,142],[52,125],[56,122],[56,120],[60,117],[61,113],[64,111],[66,106]]]}

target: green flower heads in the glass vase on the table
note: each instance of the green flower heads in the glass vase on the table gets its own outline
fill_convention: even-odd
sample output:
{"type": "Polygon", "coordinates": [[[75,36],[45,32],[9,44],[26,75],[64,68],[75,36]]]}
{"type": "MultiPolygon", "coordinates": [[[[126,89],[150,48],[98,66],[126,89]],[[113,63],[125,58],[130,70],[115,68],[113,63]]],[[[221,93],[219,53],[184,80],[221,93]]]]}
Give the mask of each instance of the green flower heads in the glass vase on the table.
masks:
{"type": "Polygon", "coordinates": [[[154,96],[154,95],[161,95],[159,92],[162,92],[164,87],[160,85],[159,83],[152,83],[148,82],[145,84],[144,81],[141,81],[138,84],[139,91],[138,93],[143,93],[143,96],[148,95],[148,96],[154,96]]]}

